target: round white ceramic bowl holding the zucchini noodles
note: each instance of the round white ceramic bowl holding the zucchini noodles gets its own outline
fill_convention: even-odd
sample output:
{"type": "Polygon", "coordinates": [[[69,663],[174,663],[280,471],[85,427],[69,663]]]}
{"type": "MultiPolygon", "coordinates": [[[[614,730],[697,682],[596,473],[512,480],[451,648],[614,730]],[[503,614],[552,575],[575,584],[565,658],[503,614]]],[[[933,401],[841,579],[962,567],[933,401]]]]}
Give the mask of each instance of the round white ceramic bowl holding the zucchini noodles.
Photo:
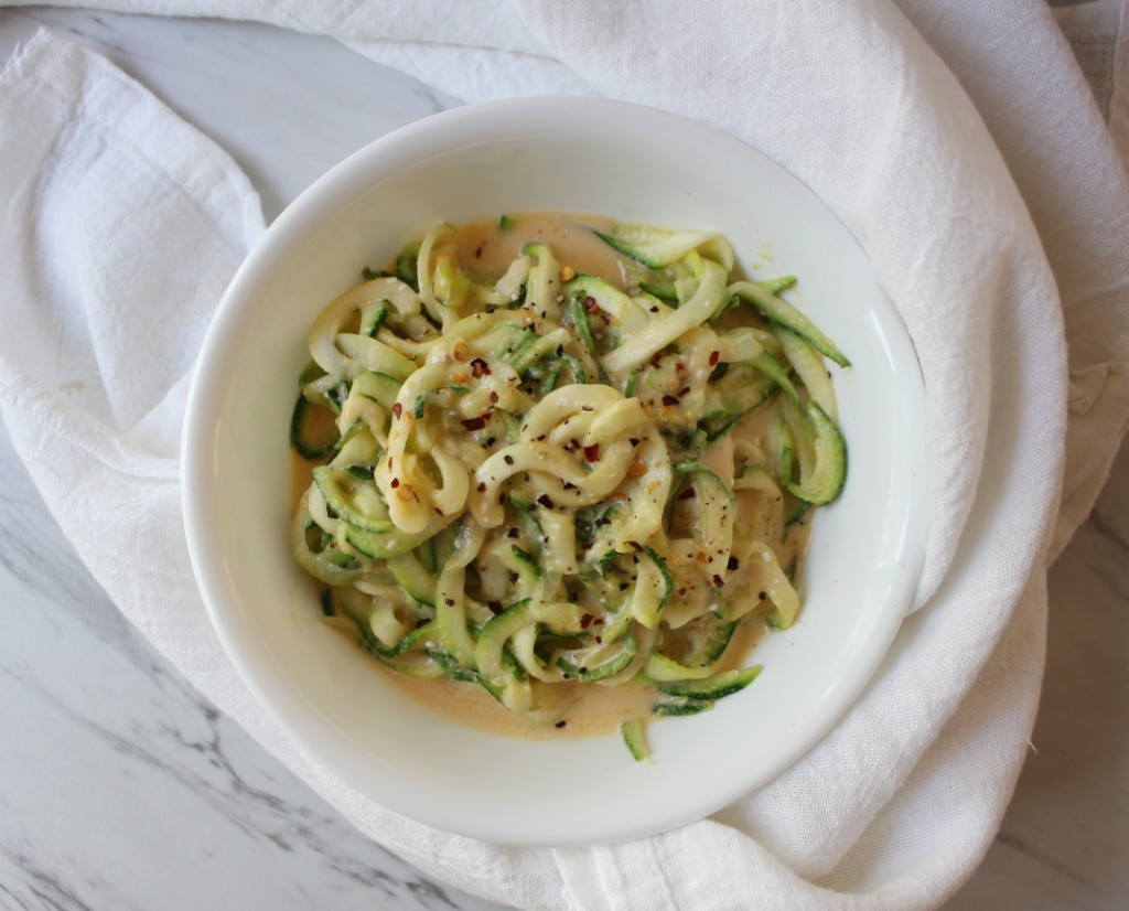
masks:
{"type": "Polygon", "coordinates": [[[912,596],[925,536],[922,387],[895,310],[846,228],[747,146],[648,108],[580,98],[464,107],[362,149],[306,191],[231,282],[189,401],[184,513],[231,662],[298,746],[406,816],[506,844],[578,844],[709,815],[796,762],[858,697],[912,596]],[[598,212],[728,236],[799,277],[800,306],[854,361],[837,371],[850,467],[816,519],[800,620],[710,711],[616,735],[526,742],[421,710],[318,620],[288,545],[287,432],[310,321],[435,222],[598,212]]]}

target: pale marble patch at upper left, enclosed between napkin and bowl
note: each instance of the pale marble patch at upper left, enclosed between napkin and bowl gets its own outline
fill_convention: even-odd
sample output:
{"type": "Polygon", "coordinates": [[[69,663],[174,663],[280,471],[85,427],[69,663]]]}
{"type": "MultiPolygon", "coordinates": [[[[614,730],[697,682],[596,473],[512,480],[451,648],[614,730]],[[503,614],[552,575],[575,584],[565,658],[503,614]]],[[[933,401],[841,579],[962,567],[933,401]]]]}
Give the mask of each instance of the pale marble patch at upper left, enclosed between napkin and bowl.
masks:
{"type": "Polygon", "coordinates": [[[40,27],[94,47],[222,146],[268,221],[316,177],[397,126],[460,102],[323,37],[253,23],[17,8],[0,58],[40,27]]]}

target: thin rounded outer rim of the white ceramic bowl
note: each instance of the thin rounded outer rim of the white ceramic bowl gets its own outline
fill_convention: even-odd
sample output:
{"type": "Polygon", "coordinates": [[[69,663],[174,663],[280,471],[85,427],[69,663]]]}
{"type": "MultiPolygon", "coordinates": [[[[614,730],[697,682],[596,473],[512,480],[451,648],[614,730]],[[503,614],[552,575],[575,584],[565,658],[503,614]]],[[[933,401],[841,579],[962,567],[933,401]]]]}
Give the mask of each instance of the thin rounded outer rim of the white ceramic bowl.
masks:
{"type": "MultiPolygon", "coordinates": [[[[394,169],[414,160],[417,143],[420,141],[430,140],[436,135],[446,134],[452,130],[457,132],[467,124],[471,124],[474,129],[479,129],[476,124],[480,124],[483,117],[502,122],[507,117],[526,113],[533,107],[536,107],[541,113],[551,112],[553,116],[558,117],[590,116],[593,112],[603,112],[604,116],[622,117],[624,122],[629,119],[645,117],[653,119],[655,123],[672,129],[697,131],[704,140],[711,142],[739,144],[743,150],[758,156],[771,167],[778,168],[781,174],[787,175],[787,179],[803,185],[798,178],[779,164],[769,159],[763,152],[741,142],[741,140],[714,128],[665,111],[632,103],[575,96],[508,98],[467,105],[432,114],[374,140],[333,166],[310,184],[306,191],[280,213],[279,218],[253,246],[231,279],[217,307],[200,348],[195,369],[193,370],[185,408],[181,449],[183,466],[181,499],[185,534],[198,588],[224,650],[240,678],[248,686],[248,690],[259,701],[260,706],[266,710],[268,715],[273,718],[285,735],[301,752],[312,756],[350,786],[352,781],[348,772],[342,774],[342,767],[335,761],[335,757],[326,755],[321,750],[320,744],[310,739],[308,730],[301,724],[295,721],[295,717],[288,710],[288,707],[278,704],[277,693],[272,692],[270,686],[263,683],[261,676],[263,668],[261,664],[248,659],[246,643],[240,639],[243,633],[231,624],[230,616],[225,613],[222,607],[224,590],[227,584],[227,580],[221,578],[225,569],[221,562],[217,562],[217,554],[211,553],[202,543],[207,541],[208,528],[213,519],[217,506],[216,503],[209,505],[204,502],[202,498],[207,485],[201,485],[200,483],[202,478],[211,473],[212,446],[215,445],[212,433],[216,430],[213,406],[221,397],[222,391],[218,388],[216,380],[209,376],[209,371],[204,369],[204,365],[217,352],[222,353],[222,338],[233,330],[233,326],[237,327],[242,319],[247,318],[247,314],[240,310],[240,306],[248,300],[248,295],[256,287],[256,283],[263,281],[264,271],[271,266],[270,259],[274,255],[273,251],[280,246],[286,247],[297,243],[309,229],[309,225],[320,224],[323,219],[331,218],[334,211],[342,204],[342,199],[348,193],[351,182],[356,179],[358,174],[364,174],[370,168],[374,160],[385,163],[380,168],[382,170],[394,169]]],[[[812,192],[806,185],[805,190],[808,193],[812,192]]],[[[823,207],[826,209],[825,204],[823,207]]],[[[830,209],[828,211],[830,212],[830,209]]],[[[841,220],[833,213],[832,218],[842,227],[844,234],[849,236],[849,231],[842,225],[841,220]]],[[[858,245],[857,239],[851,237],[851,240],[858,245]]],[[[860,246],[859,249],[861,249],[860,246]]],[[[898,317],[896,310],[889,301],[889,298],[885,298],[883,295],[883,300],[890,314],[900,324],[900,317],[898,317]]],[[[902,331],[904,332],[904,326],[902,326],[902,331]]],[[[910,352],[912,352],[912,344],[909,341],[908,334],[904,340],[895,340],[895,342],[903,347],[908,345],[910,352]]],[[[916,356],[913,356],[913,359],[916,365],[916,356]]],[[[917,369],[916,377],[910,376],[907,378],[920,384],[920,389],[911,391],[911,393],[924,398],[924,382],[921,380],[920,369],[917,369]]],[[[911,422],[914,420],[913,414],[905,417],[911,422]]],[[[917,415],[917,420],[920,422],[919,414],[917,415]]],[[[914,428],[910,428],[908,436],[912,445],[914,428]]],[[[916,436],[920,439],[920,437],[924,437],[924,433],[916,436]]],[[[913,456],[912,461],[918,465],[925,464],[920,454],[913,456]]],[[[912,595],[924,562],[924,542],[928,528],[928,507],[924,483],[922,479],[912,491],[910,501],[904,507],[904,516],[902,517],[903,543],[909,554],[907,571],[901,579],[900,596],[903,601],[912,595]]],[[[375,801],[427,824],[498,843],[588,844],[620,841],[666,831],[715,813],[733,800],[744,796],[751,789],[767,783],[767,781],[797,762],[812,746],[826,736],[828,732],[831,730],[856,702],[877,672],[883,656],[885,656],[894,640],[902,619],[903,614],[901,613],[894,614],[893,612],[887,612],[881,617],[881,622],[873,627],[873,642],[866,651],[867,660],[859,663],[851,673],[843,675],[838,683],[838,691],[834,697],[821,704],[821,709],[816,716],[809,719],[805,735],[797,741],[793,750],[780,755],[779,760],[762,776],[763,780],[752,785],[735,782],[733,787],[716,792],[708,803],[702,803],[690,811],[680,808],[665,814],[656,814],[655,818],[648,821],[648,824],[642,827],[620,822],[618,824],[593,826],[587,832],[564,833],[559,838],[546,840],[543,836],[535,836],[531,833],[514,833],[508,831],[505,824],[484,823],[478,826],[467,826],[464,821],[449,816],[445,817],[443,814],[415,812],[410,800],[400,800],[393,795],[375,795],[368,790],[365,792],[375,801]]]]}

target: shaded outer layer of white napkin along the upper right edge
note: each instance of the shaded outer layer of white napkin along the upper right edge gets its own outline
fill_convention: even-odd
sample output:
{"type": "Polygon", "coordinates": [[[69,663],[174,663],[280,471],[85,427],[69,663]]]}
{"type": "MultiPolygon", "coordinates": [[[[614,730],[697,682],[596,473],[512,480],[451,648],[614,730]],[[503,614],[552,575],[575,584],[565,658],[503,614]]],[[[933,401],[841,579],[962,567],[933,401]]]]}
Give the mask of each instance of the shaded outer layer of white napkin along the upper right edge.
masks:
{"type": "Polygon", "coordinates": [[[1129,249],[1129,159],[1105,129],[1045,3],[960,0],[944,15],[930,0],[899,6],[990,125],[1054,272],[1071,376],[1091,378],[1085,417],[1076,413],[1068,426],[1070,470],[1051,545],[1057,557],[1089,514],[1127,428],[1129,340],[1121,314],[1129,287],[1121,263],[1129,249]],[[1013,34],[1026,37],[994,40],[1013,34]],[[1093,371],[1103,366],[1109,369],[1094,383],[1093,371]]]}

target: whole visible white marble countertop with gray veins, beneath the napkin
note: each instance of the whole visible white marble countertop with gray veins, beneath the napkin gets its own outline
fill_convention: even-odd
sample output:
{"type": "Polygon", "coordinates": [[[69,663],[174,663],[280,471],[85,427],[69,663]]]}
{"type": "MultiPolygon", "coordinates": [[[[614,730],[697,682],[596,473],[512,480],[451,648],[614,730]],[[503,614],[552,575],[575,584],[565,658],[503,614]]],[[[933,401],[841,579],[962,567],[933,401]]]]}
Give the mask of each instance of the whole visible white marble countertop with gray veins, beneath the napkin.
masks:
{"type": "MultiPolygon", "coordinates": [[[[106,54],[227,148],[268,220],[371,139],[456,102],[334,42],[265,26],[0,11],[0,62],[42,25],[106,54]]],[[[500,905],[360,835],[121,617],[0,424],[0,908],[287,911],[500,905]]],[[[1129,902],[1129,448],[1050,577],[1027,763],[946,908],[1129,902]]]]}

